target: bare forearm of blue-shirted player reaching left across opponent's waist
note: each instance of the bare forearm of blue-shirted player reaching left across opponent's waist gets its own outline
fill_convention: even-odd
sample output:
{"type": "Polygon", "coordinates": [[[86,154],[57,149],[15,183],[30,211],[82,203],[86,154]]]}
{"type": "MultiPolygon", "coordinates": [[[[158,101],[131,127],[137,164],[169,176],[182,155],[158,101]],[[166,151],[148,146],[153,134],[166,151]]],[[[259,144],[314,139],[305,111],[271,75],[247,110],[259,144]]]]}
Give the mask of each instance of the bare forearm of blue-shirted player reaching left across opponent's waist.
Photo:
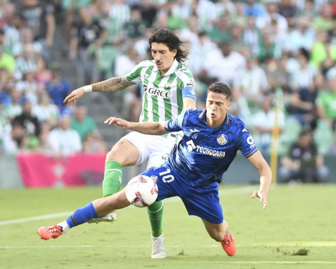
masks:
{"type": "Polygon", "coordinates": [[[161,135],[169,133],[169,131],[165,129],[164,123],[131,123],[127,122],[125,119],[118,117],[109,117],[104,123],[108,125],[114,124],[120,128],[129,129],[142,134],[161,135]]]}

